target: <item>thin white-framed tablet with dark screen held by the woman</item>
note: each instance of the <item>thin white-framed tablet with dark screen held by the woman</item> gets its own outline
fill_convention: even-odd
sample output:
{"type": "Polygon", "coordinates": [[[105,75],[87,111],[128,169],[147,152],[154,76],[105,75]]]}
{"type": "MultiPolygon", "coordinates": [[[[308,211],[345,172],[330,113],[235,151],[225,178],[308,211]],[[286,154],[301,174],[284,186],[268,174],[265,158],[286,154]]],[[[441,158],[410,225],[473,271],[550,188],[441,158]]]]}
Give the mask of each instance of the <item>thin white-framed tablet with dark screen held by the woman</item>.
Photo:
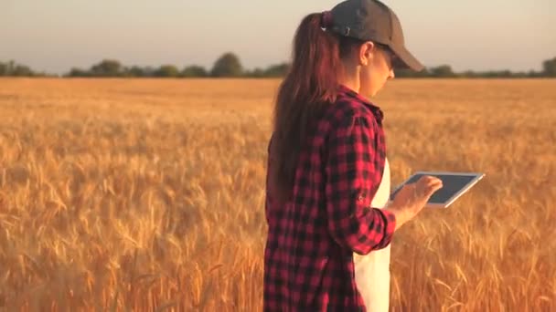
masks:
{"type": "Polygon", "coordinates": [[[390,202],[405,183],[417,182],[423,175],[432,175],[442,180],[443,187],[433,193],[426,207],[447,208],[461,195],[469,191],[476,182],[483,179],[481,172],[415,172],[409,179],[398,185],[390,194],[390,202]]]}

